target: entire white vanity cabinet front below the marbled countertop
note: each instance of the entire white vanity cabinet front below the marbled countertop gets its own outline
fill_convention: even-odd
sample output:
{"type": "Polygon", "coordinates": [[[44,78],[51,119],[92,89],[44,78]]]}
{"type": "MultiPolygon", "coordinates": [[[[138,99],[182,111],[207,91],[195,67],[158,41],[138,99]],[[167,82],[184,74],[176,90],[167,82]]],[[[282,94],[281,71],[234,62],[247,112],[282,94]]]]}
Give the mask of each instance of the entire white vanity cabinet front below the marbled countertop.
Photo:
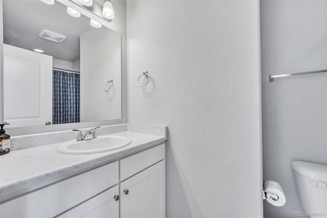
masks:
{"type": "Polygon", "coordinates": [[[163,218],[165,187],[161,144],[5,202],[0,217],[163,218]]]}

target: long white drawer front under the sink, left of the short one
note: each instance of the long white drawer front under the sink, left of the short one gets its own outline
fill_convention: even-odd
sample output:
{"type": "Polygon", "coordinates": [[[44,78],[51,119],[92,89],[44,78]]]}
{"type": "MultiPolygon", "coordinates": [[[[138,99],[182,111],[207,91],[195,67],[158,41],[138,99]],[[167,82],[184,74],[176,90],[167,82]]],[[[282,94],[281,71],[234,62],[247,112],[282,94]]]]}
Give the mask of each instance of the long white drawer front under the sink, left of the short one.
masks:
{"type": "Polygon", "coordinates": [[[0,217],[54,217],[119,182],[118,161],[0,205],[0,217]]]}

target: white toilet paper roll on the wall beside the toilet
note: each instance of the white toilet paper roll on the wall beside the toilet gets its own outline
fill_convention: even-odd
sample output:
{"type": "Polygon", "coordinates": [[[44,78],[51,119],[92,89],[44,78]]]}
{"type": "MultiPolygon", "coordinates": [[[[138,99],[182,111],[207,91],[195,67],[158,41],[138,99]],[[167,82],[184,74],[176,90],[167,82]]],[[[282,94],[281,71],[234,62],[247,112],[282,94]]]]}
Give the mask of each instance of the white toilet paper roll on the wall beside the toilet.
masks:
{"type": "Polygon", "coordinates": [[[266,181],[264,184],[264,191],[267,193],[273,193],[278,195],[278,200],[272,200],[270,198],[267,198],[266,200],[277,207],[281,207],[286,203],[286,197],[283,191],[283,188],[279,183],[275,181],[266,181]]]}

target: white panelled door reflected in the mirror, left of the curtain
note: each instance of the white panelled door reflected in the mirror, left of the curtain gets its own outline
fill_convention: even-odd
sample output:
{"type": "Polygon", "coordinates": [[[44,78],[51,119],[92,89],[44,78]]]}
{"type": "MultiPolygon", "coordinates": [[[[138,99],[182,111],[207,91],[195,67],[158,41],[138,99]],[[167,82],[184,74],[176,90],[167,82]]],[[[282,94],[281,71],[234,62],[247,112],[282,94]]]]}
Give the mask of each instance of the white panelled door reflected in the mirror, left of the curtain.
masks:
{"type": "Polygon", "coordinates": [[[52,56],[4,44],[4,119],[8,127],[52,122],[52,56]]]}

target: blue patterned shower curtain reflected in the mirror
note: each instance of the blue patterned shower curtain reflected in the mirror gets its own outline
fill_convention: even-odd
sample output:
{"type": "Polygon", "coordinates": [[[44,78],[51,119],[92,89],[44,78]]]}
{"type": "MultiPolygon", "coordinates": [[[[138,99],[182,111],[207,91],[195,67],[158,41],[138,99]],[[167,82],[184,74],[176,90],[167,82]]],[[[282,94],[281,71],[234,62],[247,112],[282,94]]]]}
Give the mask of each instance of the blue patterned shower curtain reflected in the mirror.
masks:
{"type": "Polygon", "coordinates": [[[53,124],[80,122],[80,75],[53,70],[53,124]]]}

